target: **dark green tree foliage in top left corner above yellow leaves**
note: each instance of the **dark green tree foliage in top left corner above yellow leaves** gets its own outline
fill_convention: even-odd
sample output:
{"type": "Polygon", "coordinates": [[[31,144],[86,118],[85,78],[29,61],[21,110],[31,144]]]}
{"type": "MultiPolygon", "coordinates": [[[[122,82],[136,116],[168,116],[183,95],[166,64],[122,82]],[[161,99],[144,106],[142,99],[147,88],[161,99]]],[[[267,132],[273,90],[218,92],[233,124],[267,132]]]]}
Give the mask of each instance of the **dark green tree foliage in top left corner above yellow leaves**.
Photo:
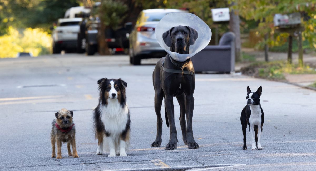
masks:
{"type": "Polygon", "coordinates": [[[0,0],[0,35],[15,28],[52,26],[78,0],[0,0]]]}

